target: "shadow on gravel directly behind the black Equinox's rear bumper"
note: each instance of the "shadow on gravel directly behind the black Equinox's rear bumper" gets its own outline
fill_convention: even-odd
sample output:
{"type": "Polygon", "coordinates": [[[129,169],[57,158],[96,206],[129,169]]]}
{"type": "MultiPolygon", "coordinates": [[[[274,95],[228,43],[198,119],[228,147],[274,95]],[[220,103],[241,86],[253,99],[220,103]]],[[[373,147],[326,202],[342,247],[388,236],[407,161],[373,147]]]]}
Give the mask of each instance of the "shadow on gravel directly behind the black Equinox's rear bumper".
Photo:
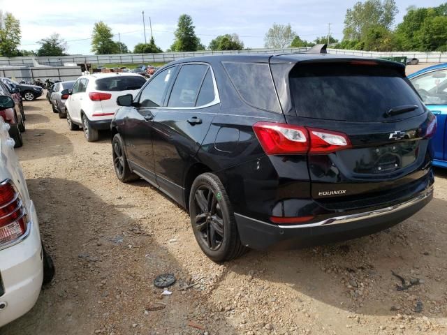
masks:
{"type": "Polygon", "coordinates": [[[235,278],[252,274],[284,284],[297,291],[296,300],[304,295],[323,303],[318,305],[322,308],[330,305],[365,315],[445,317],[446,217],[447,202],[434,199],[383,232],[295,251],[251,251],[229,269],[235,278]],[[393,271],[404,278],[405,285],[414,285],[402,290],[393,271]],[[418,301],[423,304],[420,313],[416,313],[418,301]]]}

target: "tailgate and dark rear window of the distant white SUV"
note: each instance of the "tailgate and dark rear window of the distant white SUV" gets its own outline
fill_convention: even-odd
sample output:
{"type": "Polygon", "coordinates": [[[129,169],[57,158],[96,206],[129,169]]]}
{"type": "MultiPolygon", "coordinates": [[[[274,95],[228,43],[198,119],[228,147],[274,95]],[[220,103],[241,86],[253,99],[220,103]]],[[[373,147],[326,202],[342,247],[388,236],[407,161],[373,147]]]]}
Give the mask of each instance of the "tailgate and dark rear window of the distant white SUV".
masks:
{"type": "Polygon", "coordinates": [[[138,93],[146,83],[140,75],[117,75],[96,80],[96,89],[89,93],[90,100],[101,101],[101,111],[94,112],[94,117],[112,117],[117,111],[117,98],[125,94],[138,93]]]}

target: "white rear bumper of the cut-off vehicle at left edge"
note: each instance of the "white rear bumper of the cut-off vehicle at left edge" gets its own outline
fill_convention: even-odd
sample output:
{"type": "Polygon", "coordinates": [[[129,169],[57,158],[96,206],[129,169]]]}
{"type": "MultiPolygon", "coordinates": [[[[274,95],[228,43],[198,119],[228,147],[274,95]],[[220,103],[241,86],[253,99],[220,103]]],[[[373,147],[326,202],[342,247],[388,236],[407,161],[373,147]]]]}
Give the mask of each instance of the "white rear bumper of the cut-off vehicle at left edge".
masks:
{"type": "Polygon", "coordinates": [[[29,209],[29,235],[19,243],[0,250],[0,327],[27,313],[36,304],[43,281],[41,236],[34,204],[29,209]]]}

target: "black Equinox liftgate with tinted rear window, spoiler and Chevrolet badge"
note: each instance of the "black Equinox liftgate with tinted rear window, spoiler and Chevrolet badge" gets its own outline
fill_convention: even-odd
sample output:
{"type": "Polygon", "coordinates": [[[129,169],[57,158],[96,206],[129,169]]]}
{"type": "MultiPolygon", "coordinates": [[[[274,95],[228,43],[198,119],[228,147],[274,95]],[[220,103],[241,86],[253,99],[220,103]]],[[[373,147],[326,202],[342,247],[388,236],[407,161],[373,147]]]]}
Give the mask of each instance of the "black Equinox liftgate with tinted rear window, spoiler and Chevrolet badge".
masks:
{"type": "Polygon", "coordinates": [[[288,81],[293,112],[285,113],[286,121],[305,127],[311,142],[312,198],[331,209],[358,208],[389,204],[427,187],[428,138],[436,120],[401,66],[304,61],[291,69],[288,81]],[[312,149],[326,140],[334,145],[312,149]]]}

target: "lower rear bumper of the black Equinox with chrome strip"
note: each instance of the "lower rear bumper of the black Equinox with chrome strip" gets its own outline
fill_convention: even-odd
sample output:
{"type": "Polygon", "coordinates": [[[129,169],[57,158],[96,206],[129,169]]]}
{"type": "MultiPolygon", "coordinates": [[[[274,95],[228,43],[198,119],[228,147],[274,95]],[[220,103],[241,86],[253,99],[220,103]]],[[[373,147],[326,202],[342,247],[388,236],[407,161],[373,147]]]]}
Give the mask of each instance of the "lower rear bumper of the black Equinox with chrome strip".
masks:
{"type": "Polygon", "coordinates": [[[298,248],[353,239],[389,228],[418,212],[432,198],[433,188],[430,186],[400,204],[361,213],[345,213],[308,225],[274,225],[241,214],[235,214],[235,220],[242,244],[249,248],[298,248]]]}

